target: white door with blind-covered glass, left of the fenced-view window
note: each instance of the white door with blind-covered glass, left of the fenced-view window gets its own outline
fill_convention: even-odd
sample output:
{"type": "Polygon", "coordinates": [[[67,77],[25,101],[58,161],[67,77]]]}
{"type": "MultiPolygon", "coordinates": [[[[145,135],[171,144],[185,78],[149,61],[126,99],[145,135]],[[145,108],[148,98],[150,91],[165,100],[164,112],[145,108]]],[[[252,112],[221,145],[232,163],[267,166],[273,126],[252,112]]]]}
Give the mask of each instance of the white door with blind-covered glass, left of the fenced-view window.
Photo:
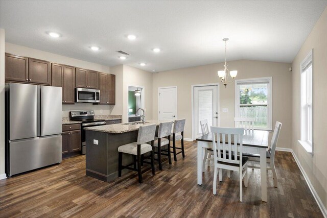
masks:
{"type": "Polygon", "coordinates": [[[194,138],[202,135],[200,120],[207,119],[208,126],[218,126],[218,85],[196,86],[194,94],[194,138]]]}

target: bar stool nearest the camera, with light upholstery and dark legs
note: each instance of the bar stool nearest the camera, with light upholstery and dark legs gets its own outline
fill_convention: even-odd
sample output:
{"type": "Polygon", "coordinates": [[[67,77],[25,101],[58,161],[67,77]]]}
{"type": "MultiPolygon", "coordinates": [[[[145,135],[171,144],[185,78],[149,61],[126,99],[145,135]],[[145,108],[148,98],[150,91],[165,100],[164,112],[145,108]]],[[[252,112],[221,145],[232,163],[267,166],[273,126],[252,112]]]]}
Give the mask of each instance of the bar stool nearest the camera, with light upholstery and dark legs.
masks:
{"type": "Polygon", "coordinates": [[[122,169],[129,169],[131,171],[136,171],[138,173],[138,182],[142,183],[142,173],[148,171],[150,168],[145,169],[142,171],[141,168],[141,155],[150,152],[151,153],[151,168],[152,168],[152,175],[155,175],[154,171],[154,155],[153,155],[153,141],[154,141],[154,135],[155,135],[155,129],[156,125],[147,125],[147,126],[141,126],[138,129],[138,135],[137,135],[137,142],[132,142],[129,144],[124,144],[123,146],[118,147],[118,176],[122,176],[122,169]],[[151,141],[151,145],[147,142],[151,141]],[[133,155],[134,162],[131,164],[128,164],[126,166],[123,166],[123,153],[125,154],[131,154],[133,155]],[[137,162],[137,168],[135,164],[135,158],[137,162]],[[129,167],[130,165],[134,164],[134,168],[129,167]]]}

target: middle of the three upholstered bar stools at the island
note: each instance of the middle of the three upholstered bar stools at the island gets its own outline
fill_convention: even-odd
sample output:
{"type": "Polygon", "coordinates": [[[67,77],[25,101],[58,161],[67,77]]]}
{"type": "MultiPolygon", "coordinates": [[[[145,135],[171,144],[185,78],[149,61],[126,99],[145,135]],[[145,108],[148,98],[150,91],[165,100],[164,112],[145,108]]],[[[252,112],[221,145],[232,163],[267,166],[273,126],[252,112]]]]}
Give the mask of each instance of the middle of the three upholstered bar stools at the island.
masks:
{"type": "Polygon", "coordinates": [[[158,137],[154,137],[153,145],[154,145],[154,147],[157,147],[157,152],[155,152],[154,148],[153,148],[153,151],[154,151],[154,154],[158,155],[158,158],[157,159],[154,158],[154,160],[157,160],[159,162],[160,171],[162,171],[161,155],[168,156],[169,164],[170,165],[172,164],[172,158],[170,155],[170,134],[172,132],[172,128],[173,128],[173,122],[160,123],[159,129],[158,129],[158,137]],[[161,148],[164,146],[167,146],[167,150],[164,150],[161,148]],[[165,153],[162,153],[162,152],[165,152],[165,153]]]}

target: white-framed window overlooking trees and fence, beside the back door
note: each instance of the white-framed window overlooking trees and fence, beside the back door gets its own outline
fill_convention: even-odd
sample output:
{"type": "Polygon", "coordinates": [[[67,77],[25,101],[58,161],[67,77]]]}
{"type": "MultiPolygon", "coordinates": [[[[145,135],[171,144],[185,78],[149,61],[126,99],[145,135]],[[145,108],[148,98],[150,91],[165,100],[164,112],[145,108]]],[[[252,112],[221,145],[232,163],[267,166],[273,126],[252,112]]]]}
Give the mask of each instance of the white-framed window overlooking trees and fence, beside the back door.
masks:
{"type": "Polygon", "coordinates": [[[235,81],[235,116],[254,117],[254,129],[272,130],[272,78],[235,81]]]}

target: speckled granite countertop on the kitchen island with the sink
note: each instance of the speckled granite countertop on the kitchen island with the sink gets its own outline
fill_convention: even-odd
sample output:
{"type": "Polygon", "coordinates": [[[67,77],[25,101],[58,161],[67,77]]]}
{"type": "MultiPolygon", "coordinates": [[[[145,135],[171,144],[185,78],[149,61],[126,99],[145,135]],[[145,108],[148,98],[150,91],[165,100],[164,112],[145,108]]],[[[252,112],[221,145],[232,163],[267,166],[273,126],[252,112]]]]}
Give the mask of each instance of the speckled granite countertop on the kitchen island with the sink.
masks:
{"type": "MultiPolygon", "coordinates": [[[[159,125],[160,123],[167,122],[166,120],[146,120],[145,124],[134,124],[134,125],[126,125],[126,124],[112,124],[112,125],[105,125],[105,126],[97,126],[97,127],[87,127],[84,128],[85,130],[97,131],[97,132],[105,132],[105,133],[124,133],[124,132],[132,132],[138,130],[141,126],[156,124],[159,125]]],[[[132,122],[139,123],[139,122],[132,122]]]]}

